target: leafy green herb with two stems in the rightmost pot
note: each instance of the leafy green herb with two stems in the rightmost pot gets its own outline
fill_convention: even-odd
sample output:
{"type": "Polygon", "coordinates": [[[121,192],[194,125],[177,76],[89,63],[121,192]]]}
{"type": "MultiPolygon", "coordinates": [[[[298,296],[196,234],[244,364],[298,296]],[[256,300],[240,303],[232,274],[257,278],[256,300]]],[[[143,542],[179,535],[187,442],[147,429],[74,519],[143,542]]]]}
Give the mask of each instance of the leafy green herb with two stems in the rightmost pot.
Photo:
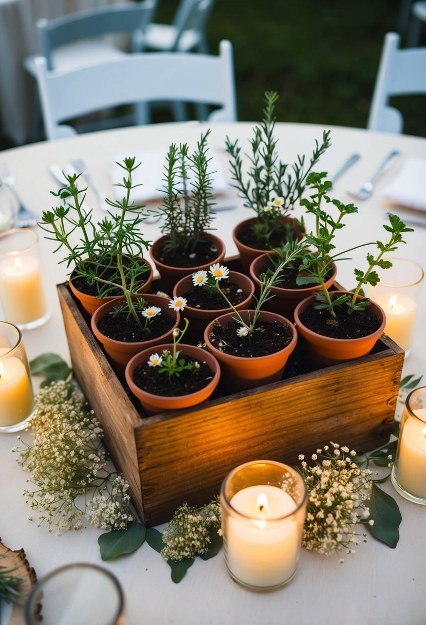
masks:
{"type": "Polygon", "coordinates": [[[363,310],[366,306],[369,306],[370,302],[366,298],[358,299],[360,289],[364,284],[371,284],[375,286],[380,281],[377,271],[374,267],[380,267],[380,269],[389,269],[392,267],[392,262],[383,258],[387,252],[393,252],[397,249],[400,243],[405,243],[402,238],[404,232],[412,232],[412,228],[407,228],[404,222],[397,215],[389,215],[389,225],[385,224],[383,227],[385,231],[390,233],[389,241],[382,242],[376,241],[362,243],[357,246],[351,247],[343,252],[334,253],[335,249],[334,237],[337,230],[344,227],[344,217],[349,214],[358,212],[358,209],[354,204],[343,204],[338,199],[330,199],[327,195],[332,183],[328,180],[322,180],[327,176],[326,173],[311,173],[307,178],[307,184],[314,190],[314,194],[309,199],[304,198],[300,200],[300,204],[305,206],[307,212],[314,214],[315,216],[315,232],[310,232],[306,235],[307,243],[314,247],[313,251],[307,250],[304,254],[302,264],[299,267],[300,273],[297,277],[297,283],[303,284],[320,284],[320,291],[315,295],[318,300],[315,308],[327,309],[330,314],[335,317],[335,307],[345,304],[347,306],[347,312],[349,314],[352,311],[363,310]],[[334,219],[329,212],[325,211],[323,207],[325,204],[332,204],[337,208],[337,219],[334,219]],[[357,280],[354,292],[352,294],[342,294],[338,297],[334,297],[332,293],[327,291],[325,287],[325,277],[330,272],[330,266],[332,262],[342,260],[342,256],[345,256],[348,252],[358,249],[363,246],[376,245],[377,253],[367,254],[367,269],[355,269],[355,278],[357,280]],[[307,275],[301,275],[301,272],[306,272],[307,275]]]}

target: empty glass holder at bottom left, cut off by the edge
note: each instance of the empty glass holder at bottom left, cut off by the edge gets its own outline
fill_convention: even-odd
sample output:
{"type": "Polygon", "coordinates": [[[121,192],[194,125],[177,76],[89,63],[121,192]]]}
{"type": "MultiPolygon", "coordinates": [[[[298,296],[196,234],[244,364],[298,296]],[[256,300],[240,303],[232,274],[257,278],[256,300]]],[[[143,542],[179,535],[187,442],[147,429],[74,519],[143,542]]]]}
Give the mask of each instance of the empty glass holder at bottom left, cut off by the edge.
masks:
{"type": "Polygon", "coordinates": [[[124,596],[107,569],[67,564],[35,584],[24,611],[27,625],[122,625],[124,596]]]}

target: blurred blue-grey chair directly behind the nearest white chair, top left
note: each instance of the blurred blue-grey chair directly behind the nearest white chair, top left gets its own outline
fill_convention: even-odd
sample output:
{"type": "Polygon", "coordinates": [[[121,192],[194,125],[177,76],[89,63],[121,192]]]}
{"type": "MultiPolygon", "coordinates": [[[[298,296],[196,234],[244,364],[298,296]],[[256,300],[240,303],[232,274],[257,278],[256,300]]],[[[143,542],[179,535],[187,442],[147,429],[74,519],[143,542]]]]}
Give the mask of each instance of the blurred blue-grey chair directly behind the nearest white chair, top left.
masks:
{"type": "MultiPolygon", "coordinates": [[[[126,52],[112,41],[112,34],[130,36],[131,51],[136,51],[147,24],[152,21],[158,0],[123,2],[77,11],[56,19],[39,19],[37,30],[41,54],[47,59],[48,69],[69,71],[97,62],[122,58],[126,52]]],[[[36,54],[24,59],[24,68],[36,76],[36,54]]],[[[31,134],[34,138],[40,123],[39,102],[34,103],[31,134]]],[[[89,128],[114,126],[101,121],[89,128]]]]}

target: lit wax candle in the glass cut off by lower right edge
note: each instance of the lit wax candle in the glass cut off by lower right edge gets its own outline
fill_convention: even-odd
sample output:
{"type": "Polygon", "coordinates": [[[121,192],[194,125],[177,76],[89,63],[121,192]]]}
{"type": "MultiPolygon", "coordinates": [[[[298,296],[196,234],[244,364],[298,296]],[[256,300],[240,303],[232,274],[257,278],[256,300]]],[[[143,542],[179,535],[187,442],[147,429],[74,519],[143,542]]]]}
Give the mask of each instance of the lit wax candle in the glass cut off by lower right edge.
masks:
{"type": "Polygon", "coordinates": [[[426,408],[413,411],[423,424],[407,419],[399,443],[398,482],[405,491],[426,498],[426,408]]]}

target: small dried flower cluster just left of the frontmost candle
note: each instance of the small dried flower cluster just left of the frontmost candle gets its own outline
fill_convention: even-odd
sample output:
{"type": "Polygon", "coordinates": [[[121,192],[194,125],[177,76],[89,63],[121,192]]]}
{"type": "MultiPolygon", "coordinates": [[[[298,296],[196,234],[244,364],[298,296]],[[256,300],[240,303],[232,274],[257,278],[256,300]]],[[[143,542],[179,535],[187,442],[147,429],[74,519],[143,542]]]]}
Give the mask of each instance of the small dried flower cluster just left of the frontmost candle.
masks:
{"type": "Polygon", "coordinates": [[[197,508],[185,502],[176,510],[171,522],[162,532],[166,547],[161,552],[164,559],[181,560],[195,557],[209,549],[211,530],[220,529],[220,503],[215,497],[207,506],[197,508]]]}

